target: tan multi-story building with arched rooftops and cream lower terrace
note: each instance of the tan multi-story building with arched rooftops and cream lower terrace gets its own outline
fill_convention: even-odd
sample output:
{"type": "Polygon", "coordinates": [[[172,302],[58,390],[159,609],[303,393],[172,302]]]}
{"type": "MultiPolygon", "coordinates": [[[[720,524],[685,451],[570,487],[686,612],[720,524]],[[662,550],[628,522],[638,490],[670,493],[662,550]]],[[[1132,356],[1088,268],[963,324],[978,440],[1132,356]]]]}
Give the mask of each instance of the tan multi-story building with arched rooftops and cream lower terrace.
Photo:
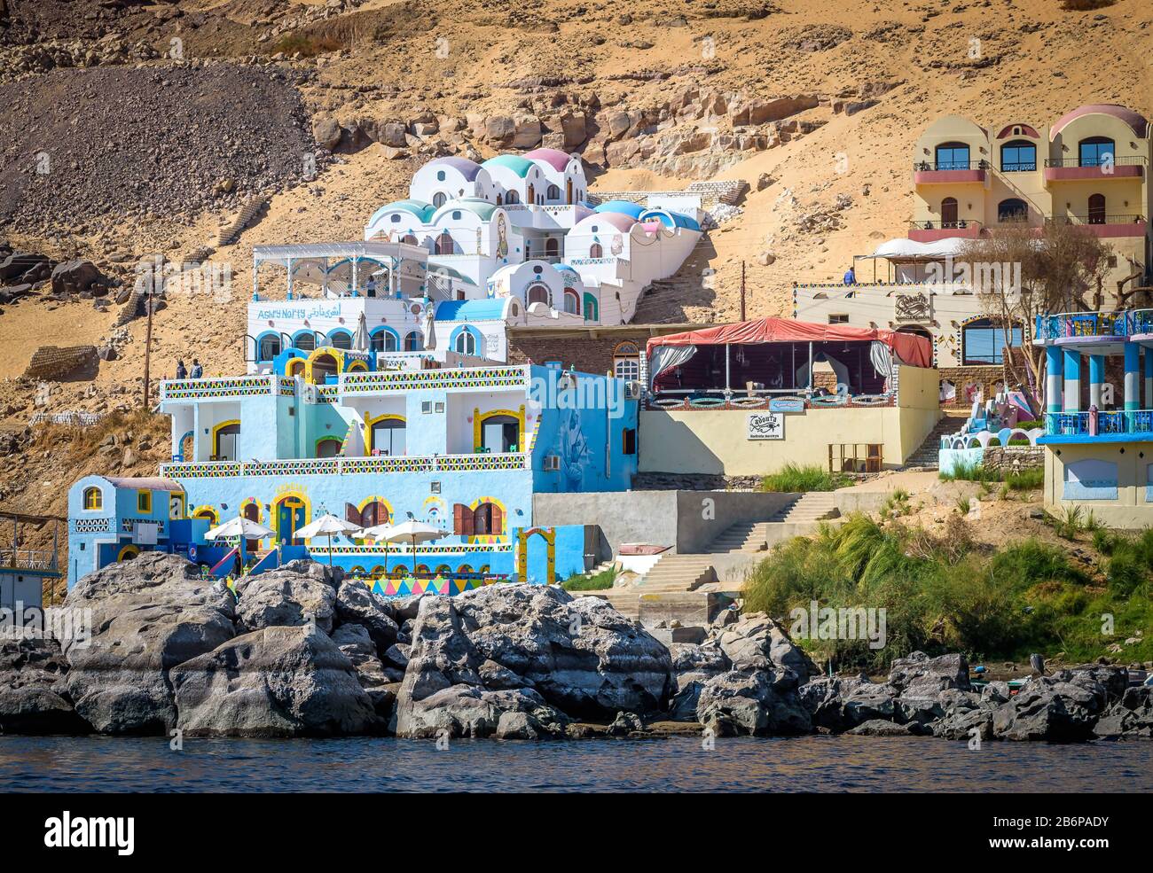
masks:
{"type": "Polygon", "coordinates": [[[966,403],[988,397],[1005,348],[1026,341],[1031,326],[992,318],[952,259],[997,229],[1063,222],[1113,250],[1107,301],[1147,287],[1150,157],[1148,122],[1121,106],[1082,106],[1052,127],[939,119],[913,150],[907,238],[861,256],[854,284],[797,286],[793,316],[927,336],[947,390],[966,403]]]}

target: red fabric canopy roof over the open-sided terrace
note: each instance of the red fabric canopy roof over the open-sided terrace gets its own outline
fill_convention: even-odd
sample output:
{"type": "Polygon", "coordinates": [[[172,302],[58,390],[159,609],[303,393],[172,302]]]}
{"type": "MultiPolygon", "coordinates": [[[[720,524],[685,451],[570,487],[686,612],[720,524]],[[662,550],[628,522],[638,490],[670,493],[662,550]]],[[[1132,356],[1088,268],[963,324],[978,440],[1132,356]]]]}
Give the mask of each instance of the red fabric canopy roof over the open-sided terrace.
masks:
{"type": "Polygon", "coordinates": [[[763,342],[852,342],[873,340],[883,342],[889,350],[909,366],[933,366],[933,348],[924,336],[914,336],[898,331],[876,327],[850,327],[849,325],[817,325],[796,321],[791,318],[760,318],[754,321],[738,321],[734,325],[718,325],[703,331],[686,331],[683,334],[654,336],[646,351],[649,357],[658,346],[744,346],[763,342]]]}

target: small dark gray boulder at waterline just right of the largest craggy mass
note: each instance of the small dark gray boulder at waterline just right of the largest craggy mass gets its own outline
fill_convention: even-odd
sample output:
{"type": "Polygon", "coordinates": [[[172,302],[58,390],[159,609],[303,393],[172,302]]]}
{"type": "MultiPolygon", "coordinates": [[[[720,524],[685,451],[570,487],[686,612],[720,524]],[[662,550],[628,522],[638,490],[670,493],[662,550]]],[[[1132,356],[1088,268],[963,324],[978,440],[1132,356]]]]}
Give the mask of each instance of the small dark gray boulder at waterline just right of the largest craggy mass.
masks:
{"type": "Polygon", "coordinates": [[[696,720],[717,736],[782,736],[808,734],[808,712],[787,670],[730,670],[701,689],[696,720]]]}

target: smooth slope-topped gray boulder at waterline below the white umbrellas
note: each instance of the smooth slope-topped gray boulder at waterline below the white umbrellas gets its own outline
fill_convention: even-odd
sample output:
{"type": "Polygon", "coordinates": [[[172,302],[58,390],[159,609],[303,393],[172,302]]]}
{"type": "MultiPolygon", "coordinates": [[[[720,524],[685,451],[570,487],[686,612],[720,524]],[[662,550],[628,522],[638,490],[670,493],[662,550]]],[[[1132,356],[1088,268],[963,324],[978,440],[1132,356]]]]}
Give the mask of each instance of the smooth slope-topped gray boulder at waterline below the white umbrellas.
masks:
{"type": "Polygon", "coordinates": [[[372,734],[383,723],[353,665],[309,627],[263,628],[171,670],[189,736],[372,734]]]}

